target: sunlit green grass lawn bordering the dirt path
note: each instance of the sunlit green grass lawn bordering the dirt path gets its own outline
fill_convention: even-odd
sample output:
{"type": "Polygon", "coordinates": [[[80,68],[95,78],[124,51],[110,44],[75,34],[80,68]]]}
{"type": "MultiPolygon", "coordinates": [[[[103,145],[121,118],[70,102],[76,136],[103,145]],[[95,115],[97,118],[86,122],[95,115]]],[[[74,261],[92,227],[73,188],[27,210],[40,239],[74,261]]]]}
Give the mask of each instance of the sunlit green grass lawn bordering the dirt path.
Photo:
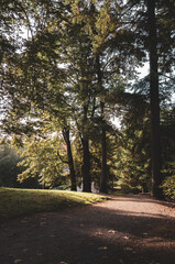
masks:
{"type": "Polygon", "coordinates": [[[58,211],[105,199],[108,198],[76,191],[0,188],[0,219],[58,211]]]}

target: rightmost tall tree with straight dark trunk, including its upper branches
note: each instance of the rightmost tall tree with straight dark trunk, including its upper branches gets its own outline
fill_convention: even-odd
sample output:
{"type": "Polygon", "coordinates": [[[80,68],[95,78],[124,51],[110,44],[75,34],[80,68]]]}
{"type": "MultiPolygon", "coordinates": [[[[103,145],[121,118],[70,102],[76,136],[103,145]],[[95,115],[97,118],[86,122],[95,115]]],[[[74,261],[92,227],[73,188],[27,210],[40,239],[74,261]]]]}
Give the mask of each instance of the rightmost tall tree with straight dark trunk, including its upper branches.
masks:
{"type": "MultiPolygon", "coordinates": [[[[158,75],[173,69],[174,25],[171,18],[172,1],[129,1],[123,4],[130,14],[128,26],[135,32],[135,44],[140,51],[149,52],[150,98],[151,98],[151,141],[152,141],[152,195],[161,198],[161,139],[160,139],[160,84],[158,75]],[[163,37],[163,35],[166,35],[163,37]],[[172,54],[171,54],[172,53],[172,54]],[[160,69],[160,73],[158,73],[160,69]]],[[[143,57],[144,58],[144,57],[143,57]]]]}

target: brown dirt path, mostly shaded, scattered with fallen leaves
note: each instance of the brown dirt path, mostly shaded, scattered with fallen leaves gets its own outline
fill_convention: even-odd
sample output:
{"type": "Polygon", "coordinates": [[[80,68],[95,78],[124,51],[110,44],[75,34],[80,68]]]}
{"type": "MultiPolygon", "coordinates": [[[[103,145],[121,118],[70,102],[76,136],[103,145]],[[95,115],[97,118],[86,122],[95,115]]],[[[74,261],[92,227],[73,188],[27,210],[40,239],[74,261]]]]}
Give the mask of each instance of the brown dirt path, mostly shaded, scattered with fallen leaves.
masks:
{"type": "Polygon", "coordinates": [[[175,207],[149,196],[0,224],[0,264],[174,264],[175,207]]]}

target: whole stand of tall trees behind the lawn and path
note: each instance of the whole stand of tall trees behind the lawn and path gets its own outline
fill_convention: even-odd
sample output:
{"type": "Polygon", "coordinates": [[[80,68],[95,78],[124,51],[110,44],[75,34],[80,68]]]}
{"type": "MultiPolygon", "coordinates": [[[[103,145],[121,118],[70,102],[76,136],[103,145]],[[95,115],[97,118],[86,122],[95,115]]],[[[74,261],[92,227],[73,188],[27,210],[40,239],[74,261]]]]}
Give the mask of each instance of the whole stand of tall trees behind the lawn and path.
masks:
{"type": "Polygon", "coordinates": [[[0,186],[174,199],[174,1],[1,0],[0,21],[0,186]]]}

